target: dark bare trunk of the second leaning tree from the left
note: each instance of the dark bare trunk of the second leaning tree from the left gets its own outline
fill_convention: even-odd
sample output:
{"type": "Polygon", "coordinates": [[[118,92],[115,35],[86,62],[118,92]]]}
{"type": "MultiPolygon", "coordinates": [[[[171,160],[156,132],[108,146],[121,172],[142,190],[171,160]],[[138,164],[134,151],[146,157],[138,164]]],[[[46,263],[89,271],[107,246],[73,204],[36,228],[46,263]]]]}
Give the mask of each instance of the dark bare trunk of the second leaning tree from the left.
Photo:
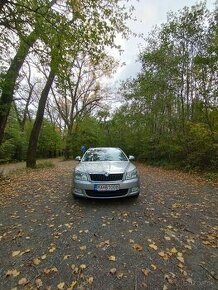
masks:
{"type": "Polygon", "coordinates": [[[55,74],[51,70],[50,74],[48,76],[47,82],[45,84],[45,87],[41,93],[41,97],[39,100],[38,110],[36,114],[36,119],[30,134],[29,139],[29,146],[27,150],[27,160],[26,160],[26,166],[30,168],[36,167],[36,150],[37,150],[37,143],[39,139],[39,133],[42,127],[43,122],[43,116],[45,111],[45,105],[48,98],[49,91],[51,89],[53,80],[54,80],[55,74]]]}

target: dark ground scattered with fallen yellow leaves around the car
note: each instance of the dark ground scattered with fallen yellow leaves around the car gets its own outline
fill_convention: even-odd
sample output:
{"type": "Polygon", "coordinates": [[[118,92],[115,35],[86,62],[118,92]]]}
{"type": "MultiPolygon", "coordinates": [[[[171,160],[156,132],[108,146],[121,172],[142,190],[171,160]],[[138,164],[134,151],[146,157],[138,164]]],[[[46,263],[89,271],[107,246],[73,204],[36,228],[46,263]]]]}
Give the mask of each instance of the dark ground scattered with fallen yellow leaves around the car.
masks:
{"type": "Polygon", "coordinates": [[[218,288],[217,187],[140,165],[138,200],[78,200],[74,162],[0,181],[0,289],[218,288]]]}

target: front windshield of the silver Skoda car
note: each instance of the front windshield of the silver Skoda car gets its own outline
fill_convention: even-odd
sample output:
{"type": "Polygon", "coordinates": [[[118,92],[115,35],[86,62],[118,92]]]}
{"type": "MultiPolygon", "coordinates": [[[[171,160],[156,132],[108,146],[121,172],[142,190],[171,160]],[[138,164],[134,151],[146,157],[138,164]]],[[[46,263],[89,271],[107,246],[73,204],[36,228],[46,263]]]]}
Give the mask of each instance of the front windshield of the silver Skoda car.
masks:
{"type": "Polygon", "coordinates": [[[128,158],[118,148],[92,148],[86,151],[82,161],[128,161],[128,158]]]}

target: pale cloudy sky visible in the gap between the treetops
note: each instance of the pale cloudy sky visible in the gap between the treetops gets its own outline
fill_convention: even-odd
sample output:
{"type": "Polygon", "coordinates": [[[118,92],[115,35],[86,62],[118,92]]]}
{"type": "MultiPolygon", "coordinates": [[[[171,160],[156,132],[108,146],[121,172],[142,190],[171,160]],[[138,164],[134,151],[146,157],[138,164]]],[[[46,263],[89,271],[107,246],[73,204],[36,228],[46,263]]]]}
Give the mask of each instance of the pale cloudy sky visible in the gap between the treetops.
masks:
{"type": "MultiPolygon", "coordinates": [[[[134,16],[137,21],[129,21],[130,29],[137,33],[143,33],[145,36],[152,30],[154,26],[160,26],[167,22],[167,13],[170,11],[177,12],[183,7],[191,7],[200,1],[197,0],[130,0],[130,4],[135,7],[134,16]]],[[[216,0],[207,0],[207,8],[211,11],[215,8],[216,0]]],[[[125,62],[126,65],[119,68],[114,74],[110,83],[113,86],[118,86],[121,80],[128,77],[135,77],[140,71],[140,64],[137,62],[139,54],[139,46],[143,45],[143,40],[140,38],[131,37],[128,41],[117,38],[117,43],[124,50],[120,56],[115,53],[115,57],[119,61],[125,62]]]]}

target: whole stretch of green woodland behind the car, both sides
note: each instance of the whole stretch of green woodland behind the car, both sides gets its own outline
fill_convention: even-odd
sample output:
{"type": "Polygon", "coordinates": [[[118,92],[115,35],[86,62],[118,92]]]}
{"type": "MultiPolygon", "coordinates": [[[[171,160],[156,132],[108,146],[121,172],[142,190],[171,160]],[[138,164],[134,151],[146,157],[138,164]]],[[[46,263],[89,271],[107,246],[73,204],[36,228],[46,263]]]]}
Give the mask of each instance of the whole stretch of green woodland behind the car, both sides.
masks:
{"type": "Polygon", "coordinates": [[[153,165],[217,171],[218,7],[169,13],[142,39],[140,73],[114,91],[110,50],[131,34],[127,2],[1,1],[0,163],[34,168],[81,145],[115,146],[153,165]]]}

